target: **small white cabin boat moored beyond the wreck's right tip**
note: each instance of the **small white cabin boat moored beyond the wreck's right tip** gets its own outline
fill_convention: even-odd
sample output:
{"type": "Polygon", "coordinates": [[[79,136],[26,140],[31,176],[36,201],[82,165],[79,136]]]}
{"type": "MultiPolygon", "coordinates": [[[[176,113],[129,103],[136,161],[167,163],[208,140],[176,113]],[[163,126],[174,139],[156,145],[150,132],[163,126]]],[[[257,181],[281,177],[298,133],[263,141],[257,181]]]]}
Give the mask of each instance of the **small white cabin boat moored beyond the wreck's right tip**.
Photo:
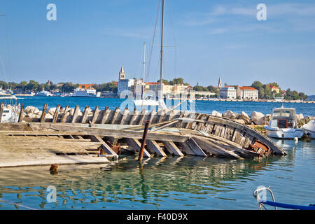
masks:
{"type": "Polygon", "coordinates": [[[300,139],[303,130],[297,127],[297,120],[294,108],[275,108],[269,125],[265,125],[268,137],[276,139],[300,139]]]}

